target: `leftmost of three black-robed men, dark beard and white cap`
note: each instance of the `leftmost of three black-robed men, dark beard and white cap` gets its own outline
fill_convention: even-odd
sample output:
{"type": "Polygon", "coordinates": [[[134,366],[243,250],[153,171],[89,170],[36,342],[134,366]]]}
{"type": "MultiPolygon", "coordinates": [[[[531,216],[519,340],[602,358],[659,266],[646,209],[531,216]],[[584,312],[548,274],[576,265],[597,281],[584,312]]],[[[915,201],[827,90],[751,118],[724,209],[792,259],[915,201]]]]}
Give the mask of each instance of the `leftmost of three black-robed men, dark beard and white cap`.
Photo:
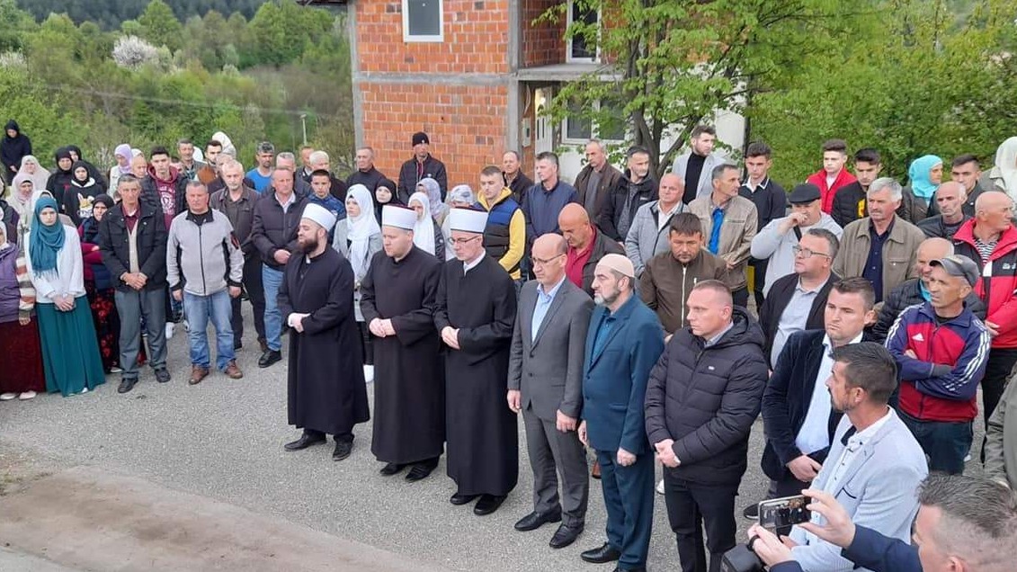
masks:
{"type": "Polygon", "coordinates": [[[279,309],[290,333],[289,418],[304,434],[286,444],[299,451],[336,438],[332,458],[353,451],[353,425],[370,418],[360,363],[360,330],[353,314],[353,267],[330,246],[336,216],[304,208],[299,254],[290,258],[279,287],[279,309]]]}

